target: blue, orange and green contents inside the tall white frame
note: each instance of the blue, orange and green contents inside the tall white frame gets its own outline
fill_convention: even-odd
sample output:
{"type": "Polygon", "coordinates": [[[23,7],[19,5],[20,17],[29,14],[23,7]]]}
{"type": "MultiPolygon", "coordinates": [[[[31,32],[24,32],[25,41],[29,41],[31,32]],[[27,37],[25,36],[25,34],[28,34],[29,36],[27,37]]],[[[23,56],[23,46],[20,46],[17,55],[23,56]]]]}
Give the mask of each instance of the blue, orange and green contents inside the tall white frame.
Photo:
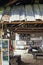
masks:
{"type": "Polygon", "coordinates": [[[9,45],[8,45],[8,40],[2,40],[2,56],[4,61],[8,61],[9,59],[9,45]]]}

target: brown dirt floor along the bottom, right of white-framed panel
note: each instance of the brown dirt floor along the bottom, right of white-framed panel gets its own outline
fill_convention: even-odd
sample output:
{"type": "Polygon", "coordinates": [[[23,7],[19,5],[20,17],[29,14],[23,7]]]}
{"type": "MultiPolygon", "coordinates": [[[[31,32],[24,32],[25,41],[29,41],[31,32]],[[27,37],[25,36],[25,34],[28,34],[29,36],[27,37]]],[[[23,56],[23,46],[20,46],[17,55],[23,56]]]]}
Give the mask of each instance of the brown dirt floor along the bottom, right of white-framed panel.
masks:
{"type": "Polygon", "coordinates": [[[35,63],[24,63],[24,62],[17,62],[17,58],[13,58],[10,60],[11,65],[43,65],[43,60],[36,60],[35,63]]]}

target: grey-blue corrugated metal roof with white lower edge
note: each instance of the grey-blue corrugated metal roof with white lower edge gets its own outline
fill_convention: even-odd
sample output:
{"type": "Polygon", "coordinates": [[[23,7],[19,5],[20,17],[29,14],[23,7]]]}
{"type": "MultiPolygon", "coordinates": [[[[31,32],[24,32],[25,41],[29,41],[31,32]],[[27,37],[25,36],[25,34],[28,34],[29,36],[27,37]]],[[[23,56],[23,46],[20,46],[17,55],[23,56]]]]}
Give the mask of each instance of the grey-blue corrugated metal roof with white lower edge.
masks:
{"type": "Polygon", "coordinates": [[[43,21],[43,5],[23,5],[7,7],[4,11],[0,11],[0,20],[3,21],[43,21]]]}

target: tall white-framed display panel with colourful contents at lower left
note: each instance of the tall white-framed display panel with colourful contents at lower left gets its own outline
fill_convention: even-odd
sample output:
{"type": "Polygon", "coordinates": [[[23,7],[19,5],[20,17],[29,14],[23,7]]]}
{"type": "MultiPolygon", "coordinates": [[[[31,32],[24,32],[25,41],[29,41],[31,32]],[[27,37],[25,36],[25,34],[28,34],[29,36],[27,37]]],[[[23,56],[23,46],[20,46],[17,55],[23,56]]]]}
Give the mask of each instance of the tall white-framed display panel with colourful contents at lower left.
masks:
{"type": "Polygon", "coordinates": [[[0,39],[0,65],[9,65],[9,40],[0,39]]]}

